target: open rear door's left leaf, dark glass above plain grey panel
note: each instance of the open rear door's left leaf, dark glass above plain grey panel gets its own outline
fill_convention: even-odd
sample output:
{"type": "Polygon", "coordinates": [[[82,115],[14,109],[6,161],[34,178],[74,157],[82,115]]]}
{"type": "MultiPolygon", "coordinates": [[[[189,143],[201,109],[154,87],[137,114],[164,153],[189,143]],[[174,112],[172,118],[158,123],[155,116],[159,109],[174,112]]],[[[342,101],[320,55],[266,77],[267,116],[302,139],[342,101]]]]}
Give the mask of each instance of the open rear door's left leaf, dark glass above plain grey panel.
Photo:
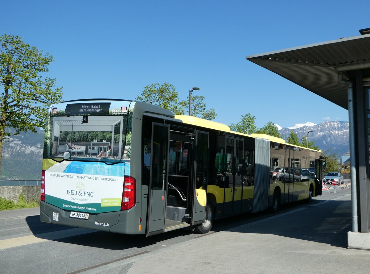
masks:
{"type": "Polygon", "coordinates": [[[147,235],[164,231],[169,127],[153,123],[147,235]]]}

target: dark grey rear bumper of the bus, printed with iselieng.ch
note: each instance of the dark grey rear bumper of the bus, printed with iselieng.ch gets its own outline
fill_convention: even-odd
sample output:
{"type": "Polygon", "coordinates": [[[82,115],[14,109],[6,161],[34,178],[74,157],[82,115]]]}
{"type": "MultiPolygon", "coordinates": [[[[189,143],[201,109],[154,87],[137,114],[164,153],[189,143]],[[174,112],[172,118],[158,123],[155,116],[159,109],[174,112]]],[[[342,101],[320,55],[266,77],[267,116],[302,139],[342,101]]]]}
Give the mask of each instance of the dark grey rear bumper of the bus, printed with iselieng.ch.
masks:
{"type": "Polygon", "coordinates": [[[70,212],[51,204],[40,202],[40,221],[51,224],[83,227],[122,234],[141,234],[140,220],[141,204],[136,204],[126,211],[114,211],[92,214],[88,220],[71,218],[70,212]],[[137,220],[135,220],[137,219],[137,220]]]}

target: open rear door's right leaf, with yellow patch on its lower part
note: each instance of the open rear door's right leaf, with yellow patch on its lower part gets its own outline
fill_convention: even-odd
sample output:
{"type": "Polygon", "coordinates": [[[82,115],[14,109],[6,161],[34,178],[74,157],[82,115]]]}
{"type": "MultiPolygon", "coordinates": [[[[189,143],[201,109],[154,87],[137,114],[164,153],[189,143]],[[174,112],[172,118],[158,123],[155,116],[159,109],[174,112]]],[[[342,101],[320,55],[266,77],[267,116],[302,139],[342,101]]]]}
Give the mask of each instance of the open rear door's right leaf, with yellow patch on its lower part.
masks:
{"type": "Polygon", "coordinates": [[[193,224],[195,222],[205,220],[208,185],[208,135],[209,134],[207,132],[196,132],[196,170],[193,224]]]}

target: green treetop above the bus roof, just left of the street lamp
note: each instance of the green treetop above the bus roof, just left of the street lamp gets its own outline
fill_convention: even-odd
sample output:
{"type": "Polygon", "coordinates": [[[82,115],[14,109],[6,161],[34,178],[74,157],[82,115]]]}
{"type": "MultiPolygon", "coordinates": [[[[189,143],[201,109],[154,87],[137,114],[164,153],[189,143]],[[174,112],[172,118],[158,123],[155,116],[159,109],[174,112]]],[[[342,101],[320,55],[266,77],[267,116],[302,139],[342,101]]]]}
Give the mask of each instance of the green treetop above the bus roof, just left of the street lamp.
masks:
{"type": "Polygon", "coordinates": [[[155,83],[146,86],[141,96],[137,96],[135,100],[168,109],[175,115],[182,115],[184,107],[179,105],[178,95],[179,93],[172,84],[155,83]]]}

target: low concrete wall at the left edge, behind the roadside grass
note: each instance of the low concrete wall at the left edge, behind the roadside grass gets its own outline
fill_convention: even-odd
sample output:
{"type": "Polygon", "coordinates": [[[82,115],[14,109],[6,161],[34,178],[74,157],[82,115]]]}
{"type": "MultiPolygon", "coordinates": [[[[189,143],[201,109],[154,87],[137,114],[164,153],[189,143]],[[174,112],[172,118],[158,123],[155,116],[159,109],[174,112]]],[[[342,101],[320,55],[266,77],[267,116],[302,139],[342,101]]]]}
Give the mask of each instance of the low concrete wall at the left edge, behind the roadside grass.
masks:
{"type": "Polygon", "coordinates": [[[7,186],[0,187],[0,197],[19,202],[20,194],[27,202],[40,201],[40,186],[7,186]]]}

